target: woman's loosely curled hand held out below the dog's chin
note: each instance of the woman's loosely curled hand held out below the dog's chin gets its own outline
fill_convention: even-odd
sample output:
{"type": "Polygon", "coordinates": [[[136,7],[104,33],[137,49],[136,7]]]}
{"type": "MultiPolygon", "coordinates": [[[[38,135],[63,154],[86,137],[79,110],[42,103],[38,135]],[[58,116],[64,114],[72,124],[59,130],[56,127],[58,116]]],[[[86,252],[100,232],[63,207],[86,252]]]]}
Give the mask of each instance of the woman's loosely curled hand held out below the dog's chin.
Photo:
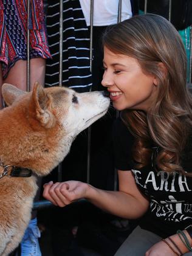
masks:
{"type": "Polygon", "coordinates": [[[80,181],[52,181],[43,185],[43,196],[55,206],[64,207],[80,198],[86,198],[89,185],[80,181]]]}

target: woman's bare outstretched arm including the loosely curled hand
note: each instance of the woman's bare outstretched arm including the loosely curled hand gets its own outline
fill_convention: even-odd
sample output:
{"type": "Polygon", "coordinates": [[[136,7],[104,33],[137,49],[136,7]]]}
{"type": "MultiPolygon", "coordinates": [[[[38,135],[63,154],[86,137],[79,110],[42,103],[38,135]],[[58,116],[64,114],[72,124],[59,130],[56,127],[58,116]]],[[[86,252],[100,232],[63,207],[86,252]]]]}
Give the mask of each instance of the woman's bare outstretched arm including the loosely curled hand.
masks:
{"type": "Polygon", "coordinates": [[[67,181],[44,185],[43,196],[53,204],[64,207],[85,198],[106,212],[122,218],[139,218],[148,209],[148,200],[140,193],[131,171],[118,171],[119,191],[96,189],[92,185],[67,181]]]}

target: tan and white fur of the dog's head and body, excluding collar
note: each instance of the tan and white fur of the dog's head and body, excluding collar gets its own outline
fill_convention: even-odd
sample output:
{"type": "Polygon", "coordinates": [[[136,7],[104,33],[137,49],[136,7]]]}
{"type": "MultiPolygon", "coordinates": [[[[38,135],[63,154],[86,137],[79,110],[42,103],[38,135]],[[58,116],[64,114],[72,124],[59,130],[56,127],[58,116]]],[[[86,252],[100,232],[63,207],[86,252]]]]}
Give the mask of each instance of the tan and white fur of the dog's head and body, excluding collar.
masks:
{"type": "MultiPolygon", "coordinates": [[[[103,116],[109,106],[101,92],[77,94],[67,88],[43,89],[38,83],[33,92],[5,84],[2,95],[9,107],[0,111],[0,160],[29,168],[39,176],[63,161],[77,134],[103,116]],[[74,95],[78,103],[73,102],[74,95]]],[[[18,246],[29,223],[37,190],[35,175],[0,179],[2,256],[18,246]]]]}

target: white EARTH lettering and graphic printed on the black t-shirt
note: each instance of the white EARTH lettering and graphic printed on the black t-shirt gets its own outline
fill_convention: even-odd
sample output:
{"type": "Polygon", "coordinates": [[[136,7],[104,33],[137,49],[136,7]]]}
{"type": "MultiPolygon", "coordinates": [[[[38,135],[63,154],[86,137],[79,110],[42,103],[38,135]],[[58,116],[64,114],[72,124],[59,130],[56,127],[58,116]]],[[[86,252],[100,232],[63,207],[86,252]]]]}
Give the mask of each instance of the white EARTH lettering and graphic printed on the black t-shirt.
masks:
{"type": "Polygon", "coordinates": [[[150,212],[164,221],[192,219],[192,179],[181,173],[132,170],[135,182],[150,199],[150,212]]]}

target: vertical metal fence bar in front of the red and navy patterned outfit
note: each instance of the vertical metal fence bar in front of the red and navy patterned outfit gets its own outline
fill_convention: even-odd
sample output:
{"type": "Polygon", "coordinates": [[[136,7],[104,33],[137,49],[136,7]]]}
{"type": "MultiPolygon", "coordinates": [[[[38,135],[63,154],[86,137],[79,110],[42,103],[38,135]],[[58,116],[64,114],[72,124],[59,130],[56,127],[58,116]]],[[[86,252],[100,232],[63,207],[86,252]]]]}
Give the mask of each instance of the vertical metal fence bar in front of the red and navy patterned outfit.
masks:
{"type": "Polygon", "coordinates": [[[30,91],[30,0],[27,0],[27,92],[30,91]]]}

